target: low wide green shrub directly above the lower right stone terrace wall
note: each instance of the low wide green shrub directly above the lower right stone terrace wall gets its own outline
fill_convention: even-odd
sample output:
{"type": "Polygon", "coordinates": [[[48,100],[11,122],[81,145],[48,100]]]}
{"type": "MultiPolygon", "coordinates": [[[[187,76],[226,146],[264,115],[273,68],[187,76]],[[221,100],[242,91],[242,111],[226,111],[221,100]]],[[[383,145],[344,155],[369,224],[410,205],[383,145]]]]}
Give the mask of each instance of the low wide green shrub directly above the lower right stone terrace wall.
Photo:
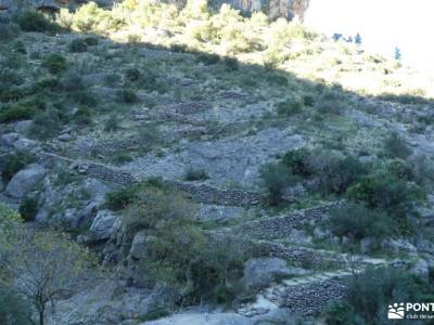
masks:
{"type": "Polygon", "coordinates": [[[334,235],[358,240],[365,237],[385,238],[396,234],[398,226],[386,212],[355,203],[333,209],[326,224],[334,235]]]}

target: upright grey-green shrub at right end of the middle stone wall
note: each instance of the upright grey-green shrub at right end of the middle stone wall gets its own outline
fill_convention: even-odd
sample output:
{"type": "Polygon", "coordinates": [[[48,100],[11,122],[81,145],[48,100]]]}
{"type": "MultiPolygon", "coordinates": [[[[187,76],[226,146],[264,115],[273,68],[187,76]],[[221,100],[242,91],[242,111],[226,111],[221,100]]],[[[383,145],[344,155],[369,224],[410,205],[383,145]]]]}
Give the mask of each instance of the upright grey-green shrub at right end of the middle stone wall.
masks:
{"type": "Polygon", "coordinates": [[[284,190],[292,183],[286,168],[281,164],[268,164],[260,168],[260,178],[269,194],[271,206],[279,205],[283,199],[284,190]]]}

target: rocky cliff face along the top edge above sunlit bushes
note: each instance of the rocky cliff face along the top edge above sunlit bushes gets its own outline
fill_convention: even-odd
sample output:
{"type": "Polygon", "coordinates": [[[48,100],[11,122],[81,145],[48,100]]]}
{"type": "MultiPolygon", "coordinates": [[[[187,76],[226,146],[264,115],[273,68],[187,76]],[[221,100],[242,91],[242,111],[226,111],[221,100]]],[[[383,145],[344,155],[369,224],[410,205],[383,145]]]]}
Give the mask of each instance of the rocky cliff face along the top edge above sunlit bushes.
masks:
{"type": "MultiPolygon", "coordinates": [[[[110,5],[111,0],[93,0],[97,3],[110,5]]],[[[165,0],[163,0],[165,1],[165,0]]],[[[182,6],[186,0],[166,0],[182,6]]],[[[59,10],[62,5],[79,4],[88,2],[87,0],[0,0],[0,12],[12,12],[22,5],[31,5],[36,9],[59,10]]],[[[234,9],[244,13],[257,11],[265,12],[271,20],[285,17],[288,20],[297,18],[303,21],[310,0],[208,0],[209,6],[219,9],[221,4],[229,3],[234,9]]]]}

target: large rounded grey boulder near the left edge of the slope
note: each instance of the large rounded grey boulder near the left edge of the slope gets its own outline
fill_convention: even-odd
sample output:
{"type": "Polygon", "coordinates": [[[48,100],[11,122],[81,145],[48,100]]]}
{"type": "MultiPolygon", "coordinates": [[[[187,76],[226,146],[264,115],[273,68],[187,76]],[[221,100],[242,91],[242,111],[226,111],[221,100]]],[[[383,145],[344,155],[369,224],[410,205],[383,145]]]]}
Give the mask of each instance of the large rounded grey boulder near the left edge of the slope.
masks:
{"type": "Polygon", "coordinates": [[[7,186],[7,194],[16,198],[26,196],[46,173],[47,169],[37,164],[29,165],[12,178],[7,186]]]}

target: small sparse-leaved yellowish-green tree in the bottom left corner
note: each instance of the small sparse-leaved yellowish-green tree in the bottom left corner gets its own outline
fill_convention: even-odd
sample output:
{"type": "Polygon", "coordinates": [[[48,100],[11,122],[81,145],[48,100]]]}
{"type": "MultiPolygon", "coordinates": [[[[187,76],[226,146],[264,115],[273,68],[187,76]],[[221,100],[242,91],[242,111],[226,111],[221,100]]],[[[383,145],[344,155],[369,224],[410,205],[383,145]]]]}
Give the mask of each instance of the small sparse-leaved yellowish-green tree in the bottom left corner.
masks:
{"type": "Polygon", "coordinates": [[[22,231],[5,257],[1,262],[16,291],[37,310],[40,325],[47,303],[74,294],[93,264],[86,249],[54,232],[22,231]]]}

